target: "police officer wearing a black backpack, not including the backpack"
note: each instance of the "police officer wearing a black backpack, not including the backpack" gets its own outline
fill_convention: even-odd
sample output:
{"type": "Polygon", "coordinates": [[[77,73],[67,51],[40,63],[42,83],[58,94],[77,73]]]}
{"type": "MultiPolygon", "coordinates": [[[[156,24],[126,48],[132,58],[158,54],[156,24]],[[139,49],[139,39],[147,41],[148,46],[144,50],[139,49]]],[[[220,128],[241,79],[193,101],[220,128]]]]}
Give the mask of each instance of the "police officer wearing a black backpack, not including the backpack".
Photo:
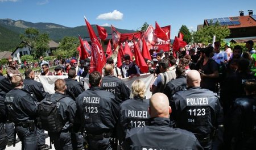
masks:
{"type": "MultiPolygon", "coordinates": [[[[65,96],[65,81],[63,79],[58,79],[54,82],[55,94],[49,95],[49,101],[55,101],[59,97],[57,103],[57,110],[64,120],[64,126],[61,128],[60,133],[49,132],[51,140],[53,140],[55,149],[72,149],[71,134],[70,129],[74,122],[76,113],[76,102],[70,97],[65,96]]],[[[43,99],[46,101],[48,96],[43,99]]]]}

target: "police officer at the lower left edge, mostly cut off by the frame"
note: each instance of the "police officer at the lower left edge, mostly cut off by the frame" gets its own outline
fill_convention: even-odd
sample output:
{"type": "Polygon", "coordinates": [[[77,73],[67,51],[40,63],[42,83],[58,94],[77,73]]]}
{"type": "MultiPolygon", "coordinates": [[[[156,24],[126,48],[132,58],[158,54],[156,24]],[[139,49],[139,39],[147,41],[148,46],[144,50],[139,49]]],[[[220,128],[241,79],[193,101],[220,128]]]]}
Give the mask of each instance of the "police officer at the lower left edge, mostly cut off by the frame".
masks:
{"type": "Polygon", "coordinates": [[[0,95],[0,149],[5,149],[8,143],[8,137],[3,123],[6,121],[7,114],[5,108],[5,99],[0,95]]]}

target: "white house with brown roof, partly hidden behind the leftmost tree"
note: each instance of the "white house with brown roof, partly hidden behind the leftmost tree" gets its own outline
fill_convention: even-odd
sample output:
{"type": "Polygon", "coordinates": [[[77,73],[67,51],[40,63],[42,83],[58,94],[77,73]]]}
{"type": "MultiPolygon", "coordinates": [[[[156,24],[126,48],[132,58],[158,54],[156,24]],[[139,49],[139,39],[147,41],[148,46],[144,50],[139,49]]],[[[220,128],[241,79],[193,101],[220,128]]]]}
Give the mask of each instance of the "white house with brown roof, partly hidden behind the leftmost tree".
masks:
{"type": "MultiPolygon", "coordinates": [[[[11,57],[13,57],[13,60],[14,61],[18,61],[19,63],[21,62],[20,61],[20,57],[21,56],[23,56],[23,55],[31,55],[32,50],[33,50],[30,47],[30,44],[27,44],[24,41],[22,41],[19,45],[22,45],[22,44],[24,44],[25,46],[24,47],[17,47],[15,49],[15,51],[13,53],[11,53],[11,57]]],[[[53,40],[50,40],[49,43],[48,43],[48,46],[49,46],[49,49],[46,52],[46,56],[51,55],[52,51],[59,47],[59,44],[56,43],[53,40]]]]}

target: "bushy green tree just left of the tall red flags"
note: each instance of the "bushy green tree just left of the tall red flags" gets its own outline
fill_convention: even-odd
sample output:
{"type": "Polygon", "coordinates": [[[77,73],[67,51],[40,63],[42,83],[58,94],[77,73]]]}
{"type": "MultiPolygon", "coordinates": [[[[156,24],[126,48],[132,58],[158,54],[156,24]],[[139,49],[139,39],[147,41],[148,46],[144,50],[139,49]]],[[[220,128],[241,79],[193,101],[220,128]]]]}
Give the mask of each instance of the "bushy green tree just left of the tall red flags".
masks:
{"type": "Polygon", "coordinates": [[[80,45],[79,39],[75,37],[65,36],[56,51],[53,51],[53,55],[58,55],[61,57],[72,57],[79,56],[77,47],[80,45]]]}

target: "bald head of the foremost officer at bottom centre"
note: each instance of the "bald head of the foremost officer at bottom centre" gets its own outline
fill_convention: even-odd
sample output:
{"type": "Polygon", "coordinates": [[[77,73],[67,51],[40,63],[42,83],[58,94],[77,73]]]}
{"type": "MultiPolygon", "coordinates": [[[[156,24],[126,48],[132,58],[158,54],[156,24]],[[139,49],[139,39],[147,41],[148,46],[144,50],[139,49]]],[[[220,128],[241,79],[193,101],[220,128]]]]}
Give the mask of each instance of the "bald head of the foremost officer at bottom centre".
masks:
{"type": "Polygon", "coordinates": [[[152,95],[150,98],[149,113],[151,118],[169,118],[169,114],[171,114],[171,107],[169,106],[168,97],[163,93],[155,93],[152,95]]]}

